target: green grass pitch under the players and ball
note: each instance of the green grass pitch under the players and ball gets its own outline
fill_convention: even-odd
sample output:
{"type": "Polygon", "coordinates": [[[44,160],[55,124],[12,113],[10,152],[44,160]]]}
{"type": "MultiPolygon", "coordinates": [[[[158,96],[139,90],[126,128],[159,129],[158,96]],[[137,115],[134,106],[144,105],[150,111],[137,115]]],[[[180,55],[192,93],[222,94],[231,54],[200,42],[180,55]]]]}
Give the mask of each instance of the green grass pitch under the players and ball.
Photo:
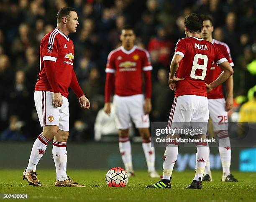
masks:
{"type": "MultiPolygon", "coordinates": [[[[203,182],[203,189],[185,189],[192,182],[193,171],[174,172],[172,189],[146,189],[159,181],[146,171],[135,171],[124,188],[108,187],[108,170],[69,170],[75,182],[86,187],[54,187],[55,170],[38,169],[42,187],[32,187],[22,180],[23,170],[0,170],[0,193],[28,194],[26,201],[256,201],[256,173],[232,172],[239,182],[220,182],[222,173],[212,172],[213,182],[203,182]]],[[[159,172],[161,173],[161,172],[159,172]]],[[[3,197],[3,195],[2,195],[3,197]]],[[[4,199],[9,200],[10,199],[4,199]]]]}

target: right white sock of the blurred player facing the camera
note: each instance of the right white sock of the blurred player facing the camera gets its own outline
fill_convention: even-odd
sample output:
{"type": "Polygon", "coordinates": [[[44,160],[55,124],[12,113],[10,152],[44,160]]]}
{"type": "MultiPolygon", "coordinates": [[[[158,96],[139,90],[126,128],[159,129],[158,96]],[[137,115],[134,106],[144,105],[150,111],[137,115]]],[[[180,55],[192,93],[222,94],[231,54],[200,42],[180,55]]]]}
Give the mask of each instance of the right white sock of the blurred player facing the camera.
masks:
{"type": "MultiPolygon", "coordinates": [[[[156,159],[156,155],[155,155],[155,148],[151,147],[151,138],[149,137],[148,140],[146,139],[142,139],[142,147],[143,147],[143,151],[146,157],[146,162],[147,162],[147,166],[148,166],[148,172],[152,172],[155,171],[155,159],[156,159]]],[[[153,143],[152,143],[153,144],[153,143]]]]}

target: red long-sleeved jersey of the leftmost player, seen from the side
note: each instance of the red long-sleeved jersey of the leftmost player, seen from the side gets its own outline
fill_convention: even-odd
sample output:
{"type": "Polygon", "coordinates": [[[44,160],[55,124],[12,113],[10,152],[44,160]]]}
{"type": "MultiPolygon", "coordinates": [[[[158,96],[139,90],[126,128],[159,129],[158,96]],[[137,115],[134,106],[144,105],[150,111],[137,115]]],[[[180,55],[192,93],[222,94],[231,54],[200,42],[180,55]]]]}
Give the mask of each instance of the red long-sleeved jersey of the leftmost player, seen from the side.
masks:
{"type": "Polygon", "coordinates": [[[72,80],[74,44],[57,28],[44,36],[40,43],[40,72],[35,91],[54,92],[46,76],[44,61],[56,62],[56,75],[62,96],[69,95],[68,88],[72,80]]]}

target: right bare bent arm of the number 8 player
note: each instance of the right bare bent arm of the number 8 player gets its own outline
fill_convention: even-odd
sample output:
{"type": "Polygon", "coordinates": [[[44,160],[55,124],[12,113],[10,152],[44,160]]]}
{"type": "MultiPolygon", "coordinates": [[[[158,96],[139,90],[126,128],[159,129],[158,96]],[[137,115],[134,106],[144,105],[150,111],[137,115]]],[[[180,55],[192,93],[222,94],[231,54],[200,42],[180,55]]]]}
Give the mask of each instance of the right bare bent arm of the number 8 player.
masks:
{"type": "Polygon", "coordinates": [[[230,64],[228,63],[228,61],[225,61],[223,63],[219,64],[219,67],[223,70],[223,72],[220,74],[220,76],[213,81],[212,83],[210,83],[207,86],[207,91],[210,88],[216,88],[217,86],[219,86],[221,83],[224,83],[228,78],[230,78],[230,76],[233,75],[234,71],[233,68],[230,66],[230,64]]]}

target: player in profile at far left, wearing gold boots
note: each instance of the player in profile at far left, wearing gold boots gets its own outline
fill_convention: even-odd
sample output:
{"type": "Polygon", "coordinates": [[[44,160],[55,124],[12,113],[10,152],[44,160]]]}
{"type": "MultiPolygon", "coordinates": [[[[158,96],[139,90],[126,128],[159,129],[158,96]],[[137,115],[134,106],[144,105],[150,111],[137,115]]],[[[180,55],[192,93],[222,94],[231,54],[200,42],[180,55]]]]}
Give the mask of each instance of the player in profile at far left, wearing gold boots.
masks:
{"type": "Polygon", "coordinates": [[[23,179],[41,187],[36,165],[47,145],[53,140],[52,156],[56,167],[57,187],[84,187],[71,180],[67,169],[67,139],[69,136],[68,88],[77,95],[81,107],[90,108],[73,70],[74,44],[69,33],[75,33],[78,23],[74,8],[61,8],[57,14],[57,28],[44,36],[40,43],[40,72],[35,88],[35,105],[43,132],[33,144],[23,179]]]}

